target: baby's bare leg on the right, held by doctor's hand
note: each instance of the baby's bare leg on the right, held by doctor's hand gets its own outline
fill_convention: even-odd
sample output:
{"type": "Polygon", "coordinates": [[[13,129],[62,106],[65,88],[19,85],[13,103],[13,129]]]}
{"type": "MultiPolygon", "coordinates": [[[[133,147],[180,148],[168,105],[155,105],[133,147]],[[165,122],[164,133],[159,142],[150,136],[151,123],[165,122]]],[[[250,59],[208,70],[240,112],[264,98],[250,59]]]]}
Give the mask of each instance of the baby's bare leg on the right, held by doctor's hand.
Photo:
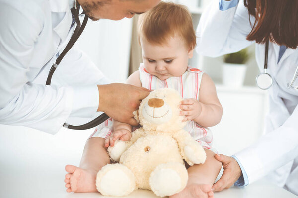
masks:
{"type": "Polygon", "coordinates": [[[214,152],[205,149],[204,164],[195,164],[187,169],[188,182],[183,191],[170,198],[213,198],[211,187],[218,176],[222,163],[214,158],[214,152]]]}

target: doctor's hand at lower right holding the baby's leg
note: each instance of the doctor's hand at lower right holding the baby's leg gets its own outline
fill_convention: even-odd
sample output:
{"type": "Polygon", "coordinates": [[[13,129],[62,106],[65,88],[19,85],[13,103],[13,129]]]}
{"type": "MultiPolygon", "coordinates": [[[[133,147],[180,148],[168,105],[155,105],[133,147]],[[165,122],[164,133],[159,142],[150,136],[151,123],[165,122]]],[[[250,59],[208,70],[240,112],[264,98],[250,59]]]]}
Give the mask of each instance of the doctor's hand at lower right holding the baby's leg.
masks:
{"type": "Polygon", "coordinates": [[[230,188],[242,174],[240,166],[234,158],[222,154],[215,155],[215,158],[222,162],[224,173],[221,179],[213,184],[212,188],[214,192],[230,188]]]}

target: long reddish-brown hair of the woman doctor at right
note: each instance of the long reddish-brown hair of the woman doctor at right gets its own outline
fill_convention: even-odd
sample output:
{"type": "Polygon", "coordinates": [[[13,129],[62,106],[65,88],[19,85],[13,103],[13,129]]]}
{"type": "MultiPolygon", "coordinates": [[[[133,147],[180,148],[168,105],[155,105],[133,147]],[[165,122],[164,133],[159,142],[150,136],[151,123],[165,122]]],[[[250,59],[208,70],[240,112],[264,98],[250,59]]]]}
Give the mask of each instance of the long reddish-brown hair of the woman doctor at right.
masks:
{"type": "Polygon", "coordinates": [[[298,0],[244,0],[248,13],[255,17],[246,39],[271,42],[296,49],[298,46],[298,0]]]}

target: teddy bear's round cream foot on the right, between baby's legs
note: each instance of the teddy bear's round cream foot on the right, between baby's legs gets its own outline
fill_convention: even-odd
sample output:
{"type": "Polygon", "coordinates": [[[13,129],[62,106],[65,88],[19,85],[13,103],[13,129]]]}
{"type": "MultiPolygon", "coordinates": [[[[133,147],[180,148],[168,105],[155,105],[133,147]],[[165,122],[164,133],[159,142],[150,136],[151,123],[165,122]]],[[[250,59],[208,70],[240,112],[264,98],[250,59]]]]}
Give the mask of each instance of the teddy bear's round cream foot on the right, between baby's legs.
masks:
{"type": "Polygon", "coordinates": [[[149,184],[157,196],[164,197],[182,191],[187,180],[188,174],[185,166],[171,162],[158,165],[150,175],[149,184]]]}

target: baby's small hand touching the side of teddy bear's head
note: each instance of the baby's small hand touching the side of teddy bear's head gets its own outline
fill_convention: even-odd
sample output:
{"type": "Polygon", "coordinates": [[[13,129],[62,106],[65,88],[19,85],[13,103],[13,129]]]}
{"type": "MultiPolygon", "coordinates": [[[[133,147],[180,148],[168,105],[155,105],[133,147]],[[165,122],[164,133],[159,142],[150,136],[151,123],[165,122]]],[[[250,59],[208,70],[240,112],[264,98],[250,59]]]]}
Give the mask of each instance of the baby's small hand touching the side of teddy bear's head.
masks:
{"type": "Polygon", "coordinates": [[[202,106],[197,99],[185,99],[181,102],[180,115],[185,115],[182,121],[193,120],[201,114],[202,106]]]}

